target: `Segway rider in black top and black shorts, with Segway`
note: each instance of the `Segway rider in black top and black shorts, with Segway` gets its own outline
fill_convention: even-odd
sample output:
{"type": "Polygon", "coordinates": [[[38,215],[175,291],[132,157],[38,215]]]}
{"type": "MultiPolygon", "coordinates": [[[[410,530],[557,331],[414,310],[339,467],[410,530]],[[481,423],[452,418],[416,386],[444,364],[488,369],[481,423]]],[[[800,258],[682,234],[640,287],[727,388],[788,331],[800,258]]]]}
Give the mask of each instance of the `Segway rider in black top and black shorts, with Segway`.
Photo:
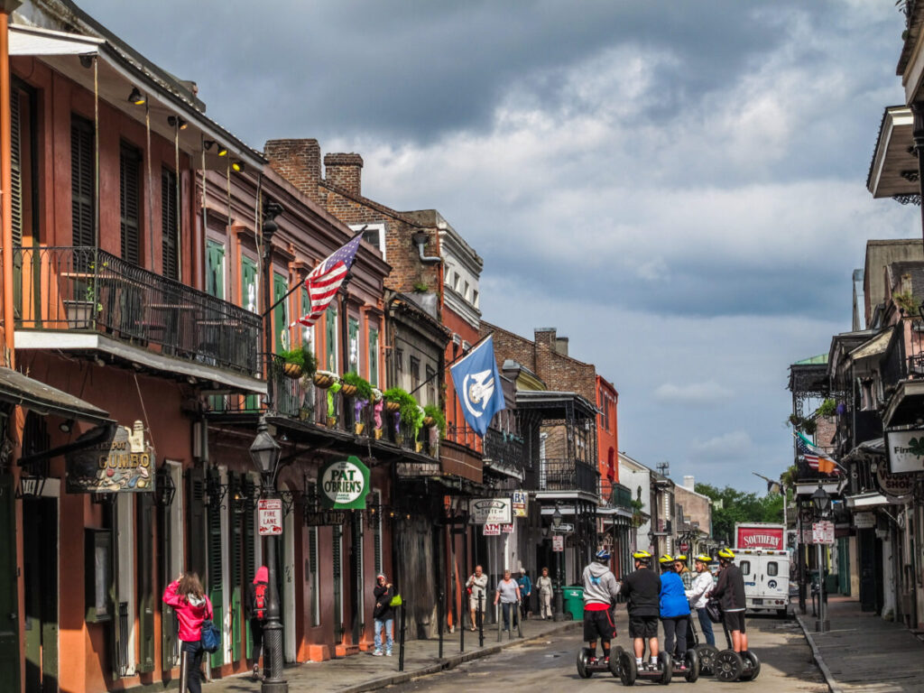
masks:
{"type": "Polygon", "coordinates": [[[635,571],[623,580],[620,592],[626,597],[629,614],[629,637],[633,640],[634,654],[623,652],[619,657],[619,678],[624,686],[633,686],[637,678],[671,681],[674,669],[667,652],[658,654],[658,617],[661,614],[661,577],[651,570],[651,554],[637,551],[635,571]],[[645,645],[650,652],[650,663],[645,665],[645,645]]]}

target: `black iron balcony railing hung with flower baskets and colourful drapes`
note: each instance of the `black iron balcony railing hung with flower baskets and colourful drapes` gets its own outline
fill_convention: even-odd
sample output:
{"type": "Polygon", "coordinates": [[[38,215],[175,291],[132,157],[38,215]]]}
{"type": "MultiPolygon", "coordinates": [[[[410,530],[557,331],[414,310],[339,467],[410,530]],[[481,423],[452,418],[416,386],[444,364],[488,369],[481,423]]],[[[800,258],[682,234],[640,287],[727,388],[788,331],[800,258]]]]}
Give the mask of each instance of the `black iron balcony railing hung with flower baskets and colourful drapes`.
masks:
{"type": "Polygon", "coordinates": [[[397,412],[383,404],[363,402],[343,390],[319,387],[308,377],[286,375],[286,362],[271,355],[269,391],[272,405],[267,407],[257,395],[219,395],[209,398],[213,412],[219,414],[261,414],[268,408],[278,416],[298,419],[329,431],[348,432],[374,441],[383,441],[424,455],[439,456],[440,435],[435,426],[422,426],[415,434],[397,412]]]}

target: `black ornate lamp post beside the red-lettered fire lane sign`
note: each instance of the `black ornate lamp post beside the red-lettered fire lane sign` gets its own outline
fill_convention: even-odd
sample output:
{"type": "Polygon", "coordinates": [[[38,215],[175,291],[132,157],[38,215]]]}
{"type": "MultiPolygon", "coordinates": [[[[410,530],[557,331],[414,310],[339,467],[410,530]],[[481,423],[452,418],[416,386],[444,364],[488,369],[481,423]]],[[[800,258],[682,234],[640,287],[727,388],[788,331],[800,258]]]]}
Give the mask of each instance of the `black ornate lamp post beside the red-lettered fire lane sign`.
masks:
{"type": "MultiPolygon", "coordinates": [[[[260,472],[261,498],[277,498],[276,473],[279,470],[281,448],[267,431],[266,419],[260,419],[257,437],[250,445],[250,457],[260,472]]],[[[261,693],[288,693],[283,678],[283,625],[279,620],[279,593],[276,590],[276,537],[266,538],[266,567],[269,572],[269,600],[266,605],[266,625],[263,626],[263,669],[266,675],[261,693]],[[266,663],[269,663],[269,666],[266,663]]]]}

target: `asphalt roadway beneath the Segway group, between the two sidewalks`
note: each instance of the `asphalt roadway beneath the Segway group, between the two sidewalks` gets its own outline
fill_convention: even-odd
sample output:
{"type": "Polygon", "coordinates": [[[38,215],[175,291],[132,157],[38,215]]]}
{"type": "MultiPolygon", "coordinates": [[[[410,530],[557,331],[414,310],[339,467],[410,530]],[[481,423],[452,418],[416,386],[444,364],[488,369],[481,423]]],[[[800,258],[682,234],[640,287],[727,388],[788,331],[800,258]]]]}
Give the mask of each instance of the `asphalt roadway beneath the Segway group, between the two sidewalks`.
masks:
{"type": "MultiPolygon", "coordinates": [[[[720,644],[723,636],[717,634],[720,644]]],[[[622,687],[618,679],[609,674],[594,674],[590,679],[577,675],[575,657],[580,648],[579,631],[552,639],[524,643],[498,654],[463,664],[443,674],[431,675],[396,687],[402,693],[410,691],[506,691],[531,690],[537,693],[555,691],[602,691],[622,687]]],[[[701,688],[723,691],[749,691],[749,693],[826,693],[821,673],[811,661],[811,652],[796,621],[771,616],[748,618],[749,647],[761,661],[760,676],[756,681],[723,684],[711,677],[702,677],[689,684],[675,678],[671,687],[701,688]]],[[[628,645],[621,629],[616,644],[628,645]]],[[[657,684],[638,681],[636,687],[657,684]]]]}

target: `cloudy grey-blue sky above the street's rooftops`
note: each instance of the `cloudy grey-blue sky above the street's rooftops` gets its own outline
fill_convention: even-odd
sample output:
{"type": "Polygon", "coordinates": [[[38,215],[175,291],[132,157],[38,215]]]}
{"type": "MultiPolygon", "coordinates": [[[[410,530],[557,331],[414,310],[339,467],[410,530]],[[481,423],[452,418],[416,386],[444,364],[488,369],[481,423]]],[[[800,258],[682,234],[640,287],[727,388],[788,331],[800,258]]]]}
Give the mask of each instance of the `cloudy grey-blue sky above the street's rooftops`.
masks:
{"type": "Polygon", "coordinates": [[[788,364],[850,329],[867,238],[921,233],[865,188],[893,0],[77,2],[251,145],[359,152],[364,194],[438,209],[485,319],[568,336],[676,480],[789,464],[788,364]]]}

